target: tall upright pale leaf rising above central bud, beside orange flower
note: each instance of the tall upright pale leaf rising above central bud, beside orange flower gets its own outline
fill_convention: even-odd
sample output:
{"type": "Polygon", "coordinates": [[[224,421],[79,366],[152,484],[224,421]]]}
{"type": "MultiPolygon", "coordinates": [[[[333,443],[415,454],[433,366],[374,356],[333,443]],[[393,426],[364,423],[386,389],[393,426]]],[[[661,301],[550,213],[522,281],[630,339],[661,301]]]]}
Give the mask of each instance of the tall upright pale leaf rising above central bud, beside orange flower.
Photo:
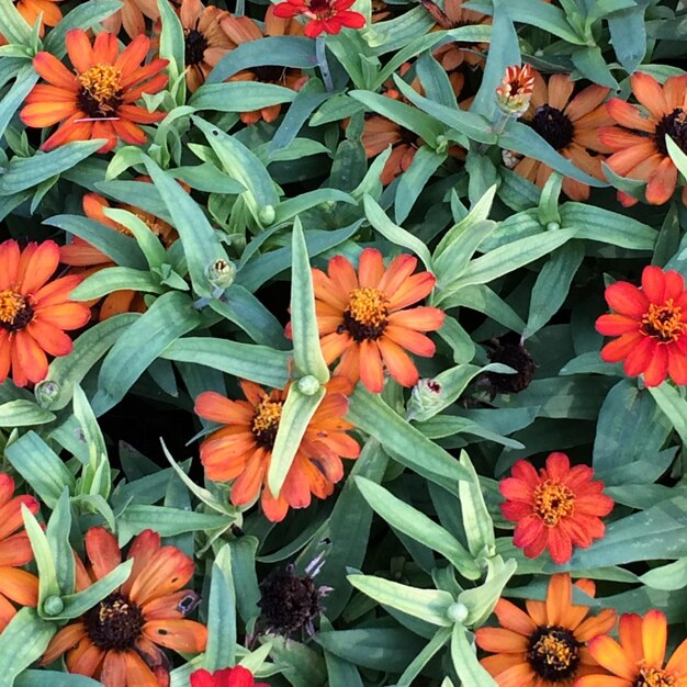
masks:
{"type": "Polygon", "coordinates": [[[296,217],[292,235],[291,331],[293,361],[300,374],[311,374],[320,384],[329,381],[329,369],[322,354],[313,273],[301,221],[296,217]]]}

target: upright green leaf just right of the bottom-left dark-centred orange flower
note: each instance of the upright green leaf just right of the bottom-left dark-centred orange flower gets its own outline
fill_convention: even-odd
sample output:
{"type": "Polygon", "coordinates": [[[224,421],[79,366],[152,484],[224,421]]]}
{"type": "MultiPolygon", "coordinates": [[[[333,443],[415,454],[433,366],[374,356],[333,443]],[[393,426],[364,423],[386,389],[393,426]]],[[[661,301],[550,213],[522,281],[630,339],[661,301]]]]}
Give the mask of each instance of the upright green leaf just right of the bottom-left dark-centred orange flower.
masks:
{"type": "Polygon", "coordinates": [[[232,548],[224,544],[212,564],[204,666],[211,673],[235,663],[236,592],[232,575],[232,548]]]}

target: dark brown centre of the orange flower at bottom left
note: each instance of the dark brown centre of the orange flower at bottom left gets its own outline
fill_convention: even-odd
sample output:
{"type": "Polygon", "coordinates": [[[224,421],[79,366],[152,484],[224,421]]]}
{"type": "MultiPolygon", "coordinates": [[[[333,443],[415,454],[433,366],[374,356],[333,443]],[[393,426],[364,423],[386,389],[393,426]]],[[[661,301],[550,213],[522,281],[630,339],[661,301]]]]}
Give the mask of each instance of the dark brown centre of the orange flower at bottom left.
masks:
{"type": "Polygon", "coordinates": [[[104,651],[126,651],[140,637],[144,618],[140,608],[114,592],[83,616],[86,631],[95,646],[104,651]]]}

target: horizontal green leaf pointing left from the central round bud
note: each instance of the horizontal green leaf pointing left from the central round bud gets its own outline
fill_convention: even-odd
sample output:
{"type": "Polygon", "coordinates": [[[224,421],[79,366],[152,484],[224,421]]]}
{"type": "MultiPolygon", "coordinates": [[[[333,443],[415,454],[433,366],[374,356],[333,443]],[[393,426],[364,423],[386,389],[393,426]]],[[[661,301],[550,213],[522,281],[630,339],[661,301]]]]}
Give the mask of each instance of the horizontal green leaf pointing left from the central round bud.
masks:
{"type": "Polygon", "coordinates": [[[266,346],[211,337],[177,339],[160,353],[160,358],[167,360],[206,365],[272,388],[283,388],[286,385],[290,357],[286,352],[266,346]]]}

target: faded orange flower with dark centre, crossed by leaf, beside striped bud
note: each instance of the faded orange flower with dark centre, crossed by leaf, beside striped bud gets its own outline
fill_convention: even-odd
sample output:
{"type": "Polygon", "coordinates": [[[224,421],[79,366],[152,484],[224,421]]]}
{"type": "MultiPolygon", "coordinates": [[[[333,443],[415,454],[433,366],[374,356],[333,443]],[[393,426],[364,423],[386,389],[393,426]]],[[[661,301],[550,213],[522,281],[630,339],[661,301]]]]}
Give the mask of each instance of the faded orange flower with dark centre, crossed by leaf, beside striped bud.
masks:
{"type": "MultiPolygon", "coordinates": [[[[522,120],[529,122],[551,147],[582,171],[604,179],[601,161],[605,158],[598,154],[610,153],[610,148],[599,143],[597,134],[599,126],[612,123],[602,105],[609,89],[588,86],[571,100],[575,83],[570,80],[568,75],[554,74],[547,85],[538,71],[532,74],[532,102],[522,120]]],[[[515,171],[543,188],[552,169],[539,160],[526,157],[516,165],[515,171]]],[[[563,191],[574,201],[589,198],[589,187],[568,177],[563,180],[563,191]]]]}

